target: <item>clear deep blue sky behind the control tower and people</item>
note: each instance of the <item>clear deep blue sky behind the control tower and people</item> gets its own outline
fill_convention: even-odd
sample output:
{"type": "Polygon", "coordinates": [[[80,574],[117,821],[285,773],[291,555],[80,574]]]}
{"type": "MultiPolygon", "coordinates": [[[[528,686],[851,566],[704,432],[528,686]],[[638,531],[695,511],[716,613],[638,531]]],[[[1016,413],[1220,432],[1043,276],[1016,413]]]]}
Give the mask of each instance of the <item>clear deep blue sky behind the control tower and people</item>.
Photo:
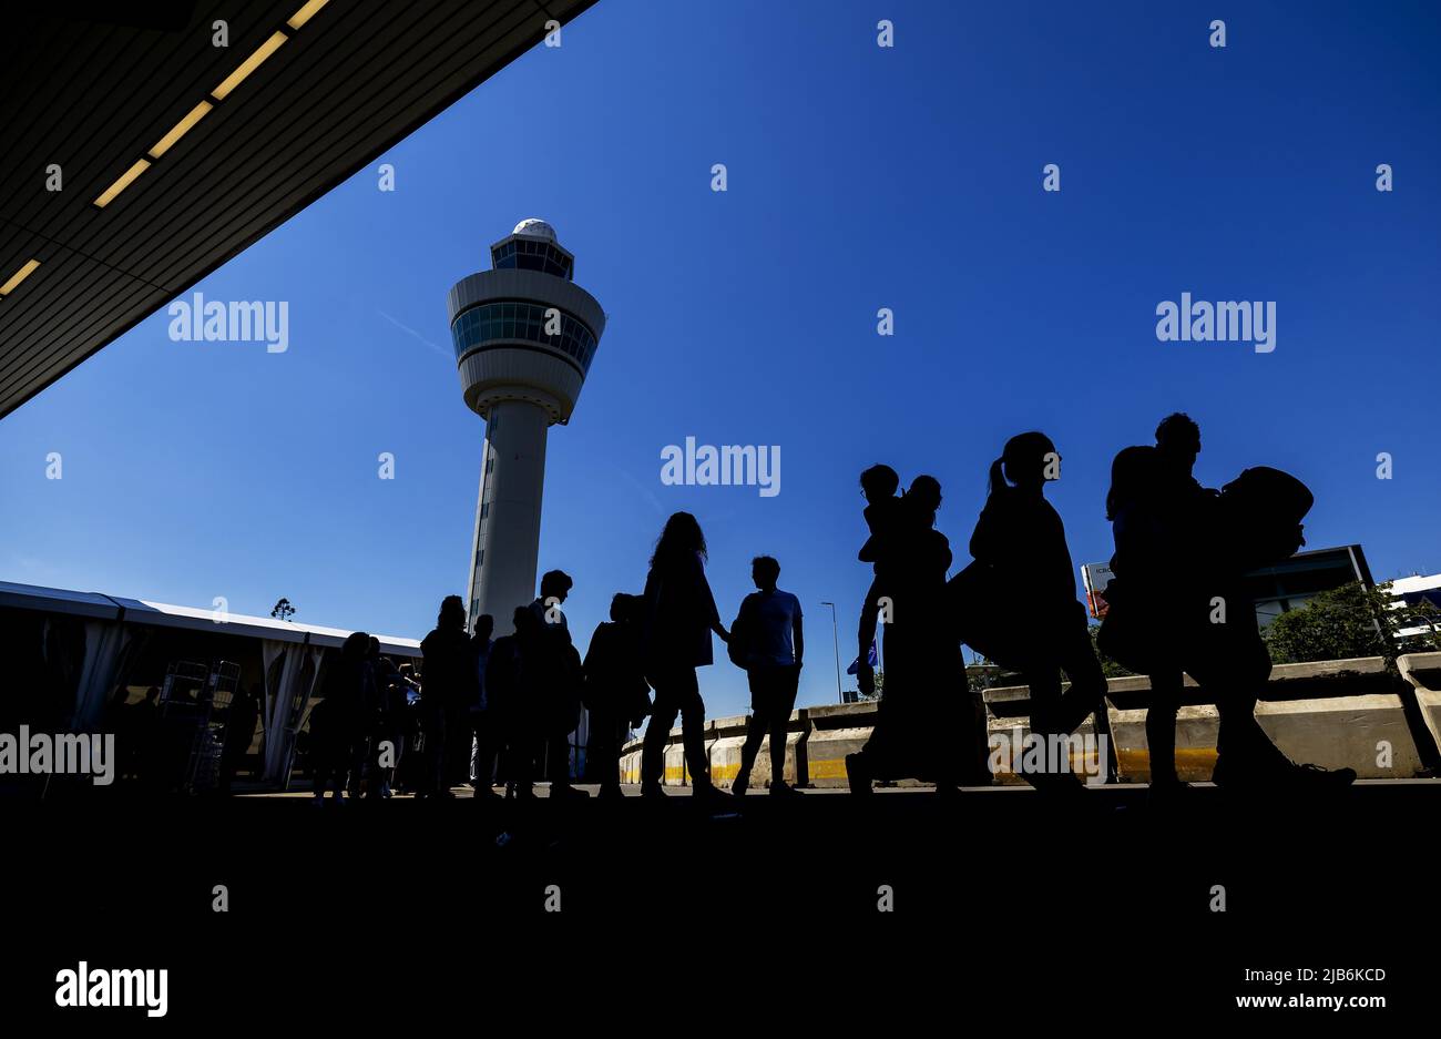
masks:
{"type": "MultiPolygon", "coordinates": [[[[1360,542],[1378,579],[1441,569],[1434,6],[659,10],[601,0],[378,160],[398,190],[372,164],[196,287],[287,300],[287,353],[173,343],[161,311],[0,422],[0,578],[424,634],[464,591],[483,441],[445,291],[526,216],[610,314],[546,471],[540,566],[575,576],[582,648],[687,509],[728,623],[751,556],[780,558],[801,702],[831,700],[818,604],[844,667],[865,465],[937,476],[964,563],[989,463],[1043,429],[1072,555],[1101,561],[1110,460],[1176,409],[1203,481],[1271,464],[1313,487],[1313,548],[1360,542]],[[1157,342],[1183,291],[1274,300],[1275,352],[1157,342]],[[687,435],[780,445],[781,493],[661,486],[687,435]]],[[[738,713],[716,650],[709,713],[738,713]]]]}

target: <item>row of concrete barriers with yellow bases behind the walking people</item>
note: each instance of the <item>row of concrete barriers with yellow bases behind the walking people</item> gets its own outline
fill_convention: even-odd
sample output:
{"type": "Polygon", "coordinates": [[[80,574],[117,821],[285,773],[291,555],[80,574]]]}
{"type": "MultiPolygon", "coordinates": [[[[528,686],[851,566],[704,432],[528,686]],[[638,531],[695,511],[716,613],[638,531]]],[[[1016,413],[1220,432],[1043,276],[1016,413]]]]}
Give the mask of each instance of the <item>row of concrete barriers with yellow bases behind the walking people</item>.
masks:
{"type": "MultiPolygon", "coordinates": [[[[1293,761],[1326,768],[1350,767],[1362,778],[1411,778],[1424,774],[1431,748],[1441,744],[1441,653],[1401,657],[1399,672],[1404,677],[1386,672],[1380,657],[1277,664],[1257,705],[1257,719],[1293,761]],[[1408,718],[1405,697],[1412,695],[1412,687],[1424,722],[1408,718]]],[[[1176,768],[1187,781],[1209,780],[1216,762],[1219,718],[1215,706],[1200,696],[1196,685],[1186,679],[1176,722],[1176,768]]],[[[1146,782],[1150,778],[1146,744],[1148,700],[1150,683],[1146,677],[1110,679],[1107,718],[1123,782],[1146,782]]],[[[987,689],[984,703],[990,735],[1010,735],[1020,729],[1025,736],[1029,732],[1027,687],[987,689]]],[[[791,715],[787,735],[787,782],[844,787],[846,755],[866,744],[875,719],[873,702],[797,710],[791,715]]],[[[1079,732],[1094,733],[1094,718],[1079,732]]],[[[735,778],[744,741],[745,718],[706,723],[710,772],[718,785],[728,785],[735,778]]],[[[624,748],[621,775],[627,782],[638,781],[640,741],[624,748]]],[[[672,729],[666,745],[666,782],[679,785],[686,781],[680,729],[672,729]]],[[[767,781],[769,755],[762,745],[751,785],[759,788],[767,781]]],[[[1001,771],[997,781],[1020,782],[1009,771],[1001,771]]]]}

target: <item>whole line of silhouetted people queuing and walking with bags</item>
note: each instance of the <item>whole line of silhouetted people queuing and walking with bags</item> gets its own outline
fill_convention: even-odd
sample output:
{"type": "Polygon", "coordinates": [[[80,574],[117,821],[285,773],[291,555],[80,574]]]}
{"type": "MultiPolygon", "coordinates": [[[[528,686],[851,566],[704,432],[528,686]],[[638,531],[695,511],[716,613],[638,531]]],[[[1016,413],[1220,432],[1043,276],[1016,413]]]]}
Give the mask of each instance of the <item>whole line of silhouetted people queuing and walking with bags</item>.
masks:
{"type": "MultiPolygon", "coordinates": [[[[1271,664],[1241,578],[1304,543],[1310,491],[1270,468],[1246,470],[1222,490],[1209,490],[1193,476],[1199,452],[1196,424],[1167,416],[1154,445],[1128,447],[1115,457],[1105,503],[1115,579],[1098,643],[1150,676],[1153,794],[1172,795],[1186,785],[1174,765],[1185,674],[1221,716],[1218,784],[1349,784],[1350,770],[1287,759],[1255,721],[1271,664]]],[[[902,490],[889,465],[860,474],[869,536],[857,558],[870,563],[872,584],[860,610],[857,680],[862,692],[875,692],[870,651],[878,624],[886,680],[869,741],[846,758],[855,794],[899,778],[931,781],[944,795],[990,782],[986,716],[967,687],[963,643],[1023,677],[1032,732],[1043,745],[1056,746],[1092,716],[1098,731],[1105,729],[1107,683],[1085,607],[1076,601],[1065,526],[1045,497],[1059,474],[1061,454],[1045,434],[1012,437],[989,471],[986,504],[970,538],[973,559],[950,579],[951,545],[937,529],[940,481],[918,476],[902,490]]],[[[356,633],[311,716],[317,800],[327,787],[342,797],[347,777],[352,793],[365,777],[367,797],[388,797],[402,758],[416,754],[419,762],[412,759],[408,770],[418,777],[416,797],[450,798],[452,787],[471,782],[478,798],[490,800],[499,797],[493,784],[503,780],[507,795],[529,798],[542,778],[553,798],[585,797],[571,767],[571,735],[582,708],[589,712],[601,798],[623,795],[620,749],[647,716],[643,797],[663,795],[664,748],[677,716],[697,800],[746,793],[767,736],[769,790],[794,795],[782,777],[804,656],[800,599],[778,588],[780,562],[757,556],[757,591],[728,628],[706,563],[696,517],[674,513],[656,542],[644,591],[615,594],[610,620],[597,627],[584,660],[561,610],[574,585],[562,571],[542,576],[539,595],[516,607],[513,633],[497,640],[490,615],[467,633],[460,597],[445,598],[421,643],[419,683],[380,656],[376,640],[356,633]],[[712,782],[705,746],[699,669],[715,663],[712,637],[745,669],[752,697],[729,793],[712,782]],[[412,712],[406,705],[416,689],[412,712]]],[[[1017,771],[1042,791],[1082,788],[1069,761],[1026,758],[1017,771]]]]}

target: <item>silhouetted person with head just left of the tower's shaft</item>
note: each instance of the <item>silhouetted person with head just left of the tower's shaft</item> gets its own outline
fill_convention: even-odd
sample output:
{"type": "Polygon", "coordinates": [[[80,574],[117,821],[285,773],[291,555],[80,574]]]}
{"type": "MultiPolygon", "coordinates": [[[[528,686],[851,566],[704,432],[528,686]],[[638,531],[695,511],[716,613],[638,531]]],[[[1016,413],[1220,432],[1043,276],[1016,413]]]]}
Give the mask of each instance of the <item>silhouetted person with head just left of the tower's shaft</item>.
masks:
{"type": "MultiPolygon", "coordinates": [[[[425,774],[416,797],[454,797],[450,790],[451,741],[474,699],[476,664],[465,637],[465,605],[460,595],[441,601],[435,628],[421,640],[425,670],[421,676],[421,726],[425,736],[425,774]]],[[[465,758],[470,758],[468,745],[465,758]]]]}

